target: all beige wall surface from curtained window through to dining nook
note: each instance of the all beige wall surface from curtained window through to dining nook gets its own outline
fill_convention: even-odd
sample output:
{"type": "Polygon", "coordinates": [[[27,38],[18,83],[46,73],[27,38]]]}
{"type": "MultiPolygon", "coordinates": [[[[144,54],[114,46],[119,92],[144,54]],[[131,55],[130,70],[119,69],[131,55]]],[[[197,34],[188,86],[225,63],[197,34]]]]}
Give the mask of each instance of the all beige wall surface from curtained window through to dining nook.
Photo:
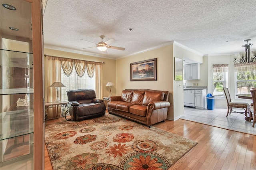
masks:
{"type": "MultiPolygon", "coordinates": [[[[155,89],[169,91],[169,102],[171,103],[171,106],[168,108],[167,118],[170,120],[179,119],[184,114],[183,81],[174,81],[174,57],[178,57],[180,59],[187,58],[202,63],[200,64],[201,79],[186,82],[188,82],[187,85],[198,83],[199,86],[207,86],[207,93],[212,93],[213,90],[211,86],[212,64],[228,63],[228,88],[230,91],[234,91],[234,63],[231,55],[202,57],[201,55],[194,53],[189,49],[184,49],[175,43],[117,60],[46,48],[44,49],[44,54],[105,62],[105,64],[103,64],[103,84],[105,97],[110,93],[109,87],[105,86],[109,81],[115,84],[114,87],[112,87],[113,95],[120,95],[124,89],[155,89]],[[153,58],[157,58],[157,81],[130,81],[130,63],[153,58]]],[[[47,68],[47,65],[45,68],[47,68]]],[[[44,73],[47,75],[47,69],[45,69],[44,73]]],[[[235,99],[234,93],[231,95],[231,98],[232,101],[242,101],[241,99],[235,99]]],[[[250,103],[248,100],[243,100],[242,102],[250,103]]],[[[216,99],[215,107],[226,107],[226,99],[216,99]]]]}

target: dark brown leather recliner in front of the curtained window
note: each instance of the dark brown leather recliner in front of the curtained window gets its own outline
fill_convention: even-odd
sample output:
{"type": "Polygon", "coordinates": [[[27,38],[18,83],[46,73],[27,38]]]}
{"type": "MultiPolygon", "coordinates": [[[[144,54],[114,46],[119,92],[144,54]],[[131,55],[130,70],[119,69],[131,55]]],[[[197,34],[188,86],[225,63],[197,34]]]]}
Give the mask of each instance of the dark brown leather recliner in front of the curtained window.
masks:
{"type": "Polygon", "coordinates": [[[67,91],[69,113],[74,121],[102,116],[106,113],[106,105],[101,99],[96,99],[92,89],[78,89],[67,91]]]}

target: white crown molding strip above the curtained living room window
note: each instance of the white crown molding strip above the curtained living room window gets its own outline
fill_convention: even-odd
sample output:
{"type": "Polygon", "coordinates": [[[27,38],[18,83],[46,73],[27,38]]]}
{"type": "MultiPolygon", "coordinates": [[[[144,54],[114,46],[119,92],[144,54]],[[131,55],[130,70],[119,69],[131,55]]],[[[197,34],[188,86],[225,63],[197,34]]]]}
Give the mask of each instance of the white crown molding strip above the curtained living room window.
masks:
{"type": "Polygon", "coordinates": [[[44,48],[54,49],[54,50],[58,50],[58,51],[65,51],[65,52],[69,52],[69,53],[89,55],[89,56],[93,56],[93,57],[100,57],[100,58],[106,58],[106,59],[115,59],[115,58],[112,58],[112,57],[102,56],[100,54],[93,54],[93,53],[78,51],[78,50],[75,50],[75,49],[62,48],[62,47],[57,47],[57,46],[47,45],[47,44],[44,44],[44,48]]]}

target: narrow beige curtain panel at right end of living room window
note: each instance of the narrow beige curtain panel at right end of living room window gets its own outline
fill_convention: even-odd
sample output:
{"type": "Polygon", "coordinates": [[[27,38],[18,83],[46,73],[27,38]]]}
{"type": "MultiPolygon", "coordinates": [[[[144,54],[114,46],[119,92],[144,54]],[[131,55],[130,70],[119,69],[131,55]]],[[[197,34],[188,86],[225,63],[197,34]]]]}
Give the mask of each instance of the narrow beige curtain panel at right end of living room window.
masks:
{"type": "Polygon", "coordinates": [[[98,99],[103,99],[103,65],[100,63],[95,67],[95,93],[98,99]]]}

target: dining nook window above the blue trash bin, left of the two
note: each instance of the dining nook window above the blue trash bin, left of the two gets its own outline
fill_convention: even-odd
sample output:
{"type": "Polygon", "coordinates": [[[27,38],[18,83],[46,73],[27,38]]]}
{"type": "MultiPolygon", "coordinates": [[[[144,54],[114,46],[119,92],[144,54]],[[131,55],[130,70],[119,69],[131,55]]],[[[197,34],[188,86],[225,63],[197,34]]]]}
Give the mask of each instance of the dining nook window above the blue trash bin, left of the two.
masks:
{"type": "Polygon", "coordinates": [[[228,87],[228,64],[212,65],[213,96],[224,97],[223,87],[228,87]]]}

